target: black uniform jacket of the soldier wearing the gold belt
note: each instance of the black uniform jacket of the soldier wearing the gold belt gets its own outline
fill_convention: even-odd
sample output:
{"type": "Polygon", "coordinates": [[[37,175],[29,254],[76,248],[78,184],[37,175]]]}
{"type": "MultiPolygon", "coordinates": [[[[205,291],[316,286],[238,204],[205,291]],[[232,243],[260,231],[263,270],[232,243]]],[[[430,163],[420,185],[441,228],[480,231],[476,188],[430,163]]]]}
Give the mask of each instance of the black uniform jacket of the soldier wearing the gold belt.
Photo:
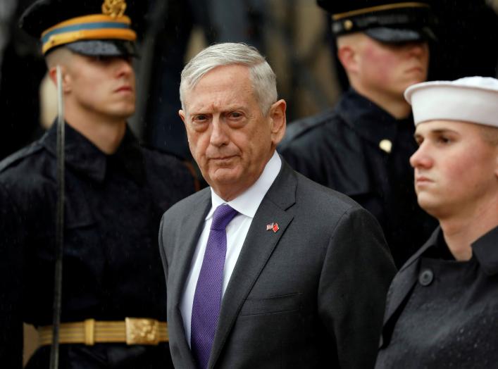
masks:
{"type": "MultiPolygon", "coordinates": [[[[21,322],[51,325],[56,125],[0,163],[0,363],[20,367],[21,322]]],[[[62,322],[166,320],[158,254],[161,215],[194,192],[172,156],[142,149],[127,129],[106,155],[66,125],[62,322]]],[[[36,355],[36,354],[35,354],[36,355]]]]}

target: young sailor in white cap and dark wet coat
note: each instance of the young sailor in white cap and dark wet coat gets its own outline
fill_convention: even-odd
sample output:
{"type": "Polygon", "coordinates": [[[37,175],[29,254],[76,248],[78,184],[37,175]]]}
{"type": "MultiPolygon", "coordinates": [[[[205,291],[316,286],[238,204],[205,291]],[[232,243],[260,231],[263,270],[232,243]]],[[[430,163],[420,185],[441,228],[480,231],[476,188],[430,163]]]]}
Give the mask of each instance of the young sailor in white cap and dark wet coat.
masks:
{"type": "Polygon", "coordinates": [[[410,87],[418,204],[440,227],[394,277],[375,368],[497,368],[498,80],[410,87]]]}

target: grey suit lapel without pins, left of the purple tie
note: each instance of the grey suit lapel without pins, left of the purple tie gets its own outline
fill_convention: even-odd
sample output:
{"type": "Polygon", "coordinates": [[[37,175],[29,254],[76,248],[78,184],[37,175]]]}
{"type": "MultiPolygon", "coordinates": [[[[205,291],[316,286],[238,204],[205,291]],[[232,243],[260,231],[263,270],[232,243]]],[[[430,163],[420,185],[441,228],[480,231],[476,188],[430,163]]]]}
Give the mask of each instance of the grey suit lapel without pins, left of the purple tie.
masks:
{"type": "MultiPolygon", "coordinates": [[[[172,263],[170,267],[171,273],[168,276],[168,291],[172,292],[171,301],[175,301],[172,305],[173,316],[168,317],[168,324],[174,325],[175,329],[178,330],[178,337],[185,337],[180,301],[191,268],[192,257],[194,256],[197,242],[204,227],[204,218],[206,218],[211,208],[211,191],[209,189],[204,189],[204,193],[201,194],[194,208],[199,211],[189,213],[189,216],[180,225],[182,237],[178,238],[182,240],[182,243],[176,245],[177,250],[175,252],[178,254],[178,257],[173,260],[174,265],[172,263]]],[[[186,356],[185,360],[190,361],[192,368],[194,368],[194,357],[192,356],[192,351],[190,351],[186,337],[178,342],[178,346],[182,356],[186,356]]]]}

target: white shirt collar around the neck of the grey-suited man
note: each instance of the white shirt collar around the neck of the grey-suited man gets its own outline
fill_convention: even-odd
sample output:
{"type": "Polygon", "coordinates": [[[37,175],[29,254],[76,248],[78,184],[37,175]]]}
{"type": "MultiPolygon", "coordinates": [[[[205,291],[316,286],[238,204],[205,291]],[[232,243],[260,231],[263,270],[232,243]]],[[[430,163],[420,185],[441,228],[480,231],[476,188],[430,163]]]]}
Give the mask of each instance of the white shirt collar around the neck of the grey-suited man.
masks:
{"type": "Polygon", "coordinates": [[[256,182],[254,182],[254,184],[245,192],[228,202],[218,196],[211,187],[212,206],[206,216],[206,220],[213,216],[214,211],[221,204],[228,204],[240,214],[246,215],[249,218],[254,218],[254,215],[259,208],[259,204],[261,204],[266,192],[268,192],[268,189],[270,189],[273,181],[275,181],[281,167],[282,160],[280,159],[280,156],[278,156],[277,151],[274,151],[273,156],[270,158],[268,163],[266,163],[263,173],[261,173],[258,180],[256,180],[256,182]]]}

